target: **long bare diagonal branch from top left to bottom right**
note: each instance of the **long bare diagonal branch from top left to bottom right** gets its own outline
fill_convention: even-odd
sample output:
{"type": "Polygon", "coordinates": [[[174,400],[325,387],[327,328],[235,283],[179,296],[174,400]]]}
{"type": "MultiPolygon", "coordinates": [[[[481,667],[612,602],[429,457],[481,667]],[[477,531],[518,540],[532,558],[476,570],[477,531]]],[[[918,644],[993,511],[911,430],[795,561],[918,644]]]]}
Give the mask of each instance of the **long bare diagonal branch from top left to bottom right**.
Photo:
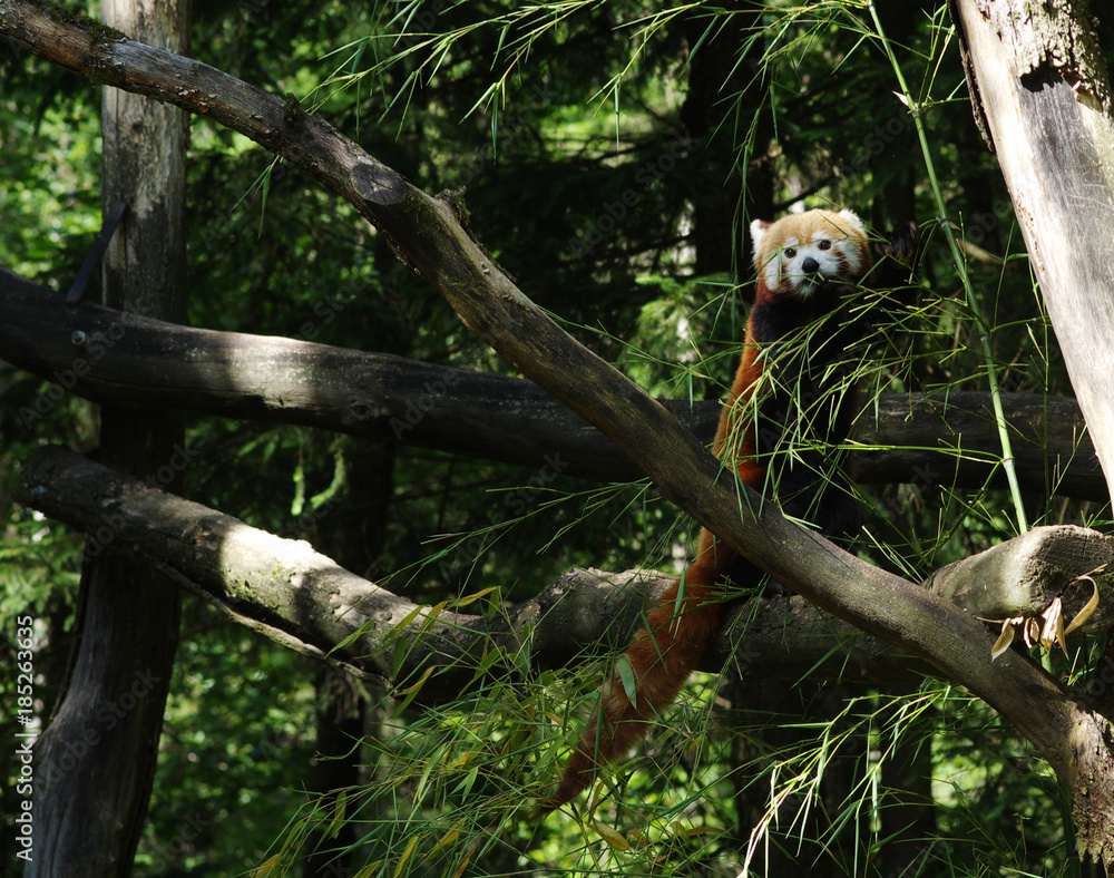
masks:
{"type": "Polygon", "coordinates": [[[1079,753],[1101,719],[1028,658],[989,662],[977,620],[786,520],[723,476],[672,414],[535,306],[472,240],[449,201],[431,198],[293,105],[168,52],[49,18],[50,7],[0,0],[0,35],[89,78],[204,113],[295,162],[355,205],[469,329],[636,459],[661,492],[745,557],[821,607],[909,650],[997,709],[1073,792],[1106,769],[1079,753]],[[285,111],[284,111],[285,109],[285,111]],[[1081,760],[1087,760],[1081,765],[1081,760]]]}

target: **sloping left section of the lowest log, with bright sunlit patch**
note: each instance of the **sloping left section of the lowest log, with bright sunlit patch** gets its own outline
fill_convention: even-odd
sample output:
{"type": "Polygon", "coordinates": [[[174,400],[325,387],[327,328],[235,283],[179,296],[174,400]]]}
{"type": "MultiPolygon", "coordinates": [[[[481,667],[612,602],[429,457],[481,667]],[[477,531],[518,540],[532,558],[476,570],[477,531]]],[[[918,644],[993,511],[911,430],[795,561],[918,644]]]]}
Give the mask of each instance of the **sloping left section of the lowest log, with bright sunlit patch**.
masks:
{"type": "MultiPolygon", "coordinates": [[[[179,450],[188,462],[188,449],[179,450]]],[[[174,467],[175,461],[168,461],[174,467]]],[[[363,634],[333,656],[358,673],[389,685],[412,682],[411,674],[429,656],[407,650],[395,666],[398,638],[414,638],[424,628],[436,664],[456,671],[431,681],[426,693],[436,700],[440,683],[449,696],[470,677],[483,641],[492,637],[514,652],[509,631],[485,630],[483,618],[441,613],[436,618],[417,605],[349,573],[303,540],[282,539],[248,527],[232,516],[166,494],[121,476],[61,448],[45,448],[29,458],[18,489],[22,503],[89,535],[87,554],[123,552],[159,566],[237,621],[286,646],[323,655],[336,644],[363,634]],[[509,638],[509,640],[508,640],[509,638]]]]}

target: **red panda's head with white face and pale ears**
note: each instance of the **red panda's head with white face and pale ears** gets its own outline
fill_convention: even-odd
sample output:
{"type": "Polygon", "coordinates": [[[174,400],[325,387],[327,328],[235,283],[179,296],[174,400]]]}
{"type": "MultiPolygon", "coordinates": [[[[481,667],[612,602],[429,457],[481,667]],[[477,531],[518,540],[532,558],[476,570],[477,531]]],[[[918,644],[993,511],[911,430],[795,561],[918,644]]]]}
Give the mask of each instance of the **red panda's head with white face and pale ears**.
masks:
{"type": "Polygon", "coordinates": [[[751,223],[754,266],[771,293],[808,297],[825,281],[854,283],[870,267],[862,222],[850,211],[809,211],[751,223]]]}

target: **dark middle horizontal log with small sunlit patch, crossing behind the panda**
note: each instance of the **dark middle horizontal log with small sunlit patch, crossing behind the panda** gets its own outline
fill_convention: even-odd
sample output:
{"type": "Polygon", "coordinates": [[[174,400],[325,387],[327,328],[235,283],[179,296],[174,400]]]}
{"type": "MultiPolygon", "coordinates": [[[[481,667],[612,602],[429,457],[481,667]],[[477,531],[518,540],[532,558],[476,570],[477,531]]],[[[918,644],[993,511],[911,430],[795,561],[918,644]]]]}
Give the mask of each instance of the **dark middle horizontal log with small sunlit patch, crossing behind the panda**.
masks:
{"type": "MultiPolygon", "coordinates": [[[[0,269],[0,358],[52,381],[42,411],[65,392],[133,408],[172,408],[320,427],[567,476],[642,478],[641,467],[536,384],[389,354],[295,339],[190,329],[61,296],[0,269]]],[[[37,403],[38,404],[38,403],[37,403]]],[[[720,401],[663,400],[705,445],[720,401]]],[[[1101,499],[1098,461],[1073,400],[1007,393],[1019,478],[1042,496],[1101,499]],[[1046,484],[1046,472],[1051,484],[1046,484]]],[[[860,419],[857,478],[979,488],[1004,484],[989,396],[883,393],[860,419]],[[874,446],[874,448],[871,448],[874,446]]]]}

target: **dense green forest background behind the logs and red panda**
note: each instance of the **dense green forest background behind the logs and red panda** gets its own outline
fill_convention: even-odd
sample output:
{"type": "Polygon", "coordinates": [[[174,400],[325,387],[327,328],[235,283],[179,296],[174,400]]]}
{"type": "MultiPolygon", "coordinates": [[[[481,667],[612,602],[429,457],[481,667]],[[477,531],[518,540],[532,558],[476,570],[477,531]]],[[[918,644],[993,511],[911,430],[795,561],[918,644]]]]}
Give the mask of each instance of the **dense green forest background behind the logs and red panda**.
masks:
{"type": "MultiPolygon", "coordinates": [[[[427,192],[463,188],[472,231],[521,289],[655,396],[714,399],[730,383],[750,220],[832,204],[879,230],[925,230],[925,289],[868,394],[995,382],[1072,396],[946,6],[877,14],[843,2],[202,0],[192,55],[296,95],[427,192]],[[893,64],[922,108],[935,189],[893,64]],[[938,195],[974,302],[935,231],[938,195]]],[[[1114,22],[1100,27],[1110,58],[1114,22]]],[[[0,264],[66,290],[100,226],[101,91],[14,51],[0,56],[0,264]]],[[[193,325],[515,373],[349,205],[204,118],[190,136],[193,325]]],[[[17,615],[39,622],[49,713],[84,540],[14,505],[6,484],[45,441],[94,451],[98,412],[2,363],[0,388],[0,623],[11,637],[17,615]]],[[[692,527],[645,482],[549,478],[541,458],[511,468],[408,447],[404,433],[372,443],[190,418],[185,494],[414,602],[483,592],[491,614],[574,566],[683,564],[692,527]]],[[[1023,498],[1029,525],[1108,524],[1108,507],[1059,498],[1052,468],[1047,478],[1023,498]]],[[[866,554],[916,581],[1018,531],[997,481],[938,481],[863,488],[866,554]]],[[[588,661],[400,710],[186,599],[136,874],[240,875],[280,852],[361,842],[306,872],[735,875],[771,796],[770,874],[789,874],[774,870],[779,856],[817,875],[1078,870],[1054,778],[993,711],[939,680],[889,691],[702,677],[673,731],[616,773],[623,796],[583,826],[566,813],[538,823],[530,798],[576,726],[561,724],[567,705],[583,716],[604,673],[588,661]],[[342,808],[315,796],[339,788],[342,808]]],[[[13,683],[6,672],[0,687],[13,683]]],[[[0,726],[13,740],[12,718],[0,726]]],[[[0,790],[6,820],[11,796],[0,790]]]]}

